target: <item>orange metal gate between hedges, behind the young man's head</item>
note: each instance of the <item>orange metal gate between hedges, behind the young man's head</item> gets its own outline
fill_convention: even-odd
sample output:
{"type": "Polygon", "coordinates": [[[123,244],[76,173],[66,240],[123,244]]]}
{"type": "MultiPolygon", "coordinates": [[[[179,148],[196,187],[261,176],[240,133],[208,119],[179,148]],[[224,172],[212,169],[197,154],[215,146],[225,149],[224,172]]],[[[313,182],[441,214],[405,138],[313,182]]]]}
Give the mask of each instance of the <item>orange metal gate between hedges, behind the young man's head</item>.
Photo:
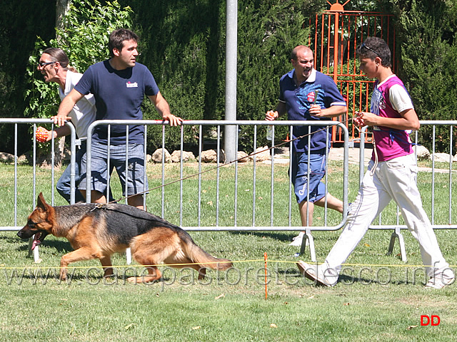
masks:
{"type": "MultiPolygon", "coordinates": [[[[356,48],[368,36],[383,38],[392,53],[392,68],[396,70],[395,29],[391,14],[344,11],[343,5],[332,4],[328,11],[311,19],[309,46],[314,51],[316,70],[333,77],[348,103],[348,111],[335,120],[346,123],[352,140],[359,139],[351,118],[357,111],[369,110],[373,80],[363,76],[358,68],[356,48]]],[[[367,141],[371,137],[367,135],[367,141]]],[[[343,142],[341,129],[333,128],[333,142],[343,142]]]]}

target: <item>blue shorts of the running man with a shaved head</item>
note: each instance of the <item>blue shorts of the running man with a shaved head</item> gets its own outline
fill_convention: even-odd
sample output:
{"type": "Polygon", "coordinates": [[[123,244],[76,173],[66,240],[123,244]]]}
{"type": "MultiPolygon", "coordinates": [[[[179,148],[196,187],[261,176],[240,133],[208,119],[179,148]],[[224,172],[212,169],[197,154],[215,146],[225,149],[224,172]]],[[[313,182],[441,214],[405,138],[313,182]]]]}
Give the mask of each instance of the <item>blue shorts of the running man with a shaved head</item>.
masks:
{"type": "Polygon", "coordinates": [[[313,203],[326,195],[326,185],[321,182],[323,176],[326,174],[326,155],[311,154],[309,157],[309,167],[311,170],[308,177],[308,153],[293,153],[291,180],[298,203],[303,201],[313,203]]]}

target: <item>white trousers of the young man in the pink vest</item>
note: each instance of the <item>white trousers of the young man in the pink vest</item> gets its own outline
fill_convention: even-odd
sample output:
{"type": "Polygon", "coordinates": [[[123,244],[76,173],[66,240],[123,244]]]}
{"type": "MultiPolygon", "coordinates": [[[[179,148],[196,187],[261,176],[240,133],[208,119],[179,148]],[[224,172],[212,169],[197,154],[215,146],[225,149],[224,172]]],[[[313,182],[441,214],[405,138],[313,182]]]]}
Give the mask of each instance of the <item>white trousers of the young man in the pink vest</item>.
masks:
{"type": "Polygon", "coordinates": [[[326,267],[338,272],[349,255],[366,234],[369,225],[393,199],[411,234],[419,242],[422,262],[428,276],[441,273],[449,265],[441,254],[435,232],[423,210],[416,177],[417,165],[413,154],[379,162],[371,175],[373,160],[351,206],[343,232],[326,259],[326,267]]]}

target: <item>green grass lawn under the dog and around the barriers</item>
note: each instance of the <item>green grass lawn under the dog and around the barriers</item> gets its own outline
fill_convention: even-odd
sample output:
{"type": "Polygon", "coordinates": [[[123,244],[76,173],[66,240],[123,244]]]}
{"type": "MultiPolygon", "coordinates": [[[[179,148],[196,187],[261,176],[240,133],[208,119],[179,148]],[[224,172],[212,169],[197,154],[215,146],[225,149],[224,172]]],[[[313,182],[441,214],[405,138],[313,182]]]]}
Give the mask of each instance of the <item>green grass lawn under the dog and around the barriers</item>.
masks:
{"type": "MultiPolygon", "coordinates": [[[[237,224],[252,222],[252,176],[249,165],[239,167],[237,224]],[[246,172],[246,173],[243,173],[246,172]],[[244,191],[250,190],[250,191],[244,191]],[[248,195],[246,195],[248,194],[248,195]]],[[[258,165],[256,179],[256,225],[270,224],[271,168],[258,165]],[[258,193],[257,193],[258,192],[258,193]]],[[[186,172],[194,172],[189,165],[186,172]]],[[[0,165],[1,225],[11,224],[11,167],[0,165]],[[6,196],[8,194],[8,196],[6,196]]],[[[18,224],[24,224],[32,209],[30,167],[20,167],[18,224]],[[22,185],[25,184],[25,185],[22,185]]],[[[51,197],[49,170],[38,170],[37,190],[51,197]],[[42,176],[42,177],[41,177],[42,176]]],[[[161,170],[151,166],[149,182],[159,185],[161,170]]],[[[179,168],[167,165],[167,177],[176,179],[179,168]]],[[[288,220],[287,167],[275,167],[273,223],[288,220]],[[284,183],[284,184],[282,184],[284,183]],[[277,191],[277,193],[276,193],[277,191]],[[286,209],[284,209],[286,207],[286,209]],[[284,217],[285,216],[285,217],[284,217]]],[[[58,177],[58,175],[56,175],[58,177]]],[[[233,167],[221,169],[220,225],[233,225],[233,167]],[[229,195],[226,197],[226,195],[229,195]],[[224,202],[226,201],[226,202],[224,202]]],[[[329,189],[338,197],[342,191],[341,165],[331,164],[329,189]]],[[[186,181],[187,182],[187,181],[186,181]]],[[[184,219],[196,222],[198,180],[185,190],[184,219]]],[[[424,207],[430,213],[431,177],[420,173],[418,184],[424,207]]],[[[448,194],[448,175],[436,175],[438,196],[448,194]],[[446,178],[447,177],[447,178],[446,178]]],[[[215,172],[202,176],[202,224],[214,224],[215,172]],[[206,190],[206,192],[203,192],[206,190]],[[212,201],[212,206],[209,202],[212,201]]],[[[453,190],[457,188],[453,184],[453,190]]],[[[118,189],[116,188],[116,192],[118,189]]],[[[358,190],[358,168],[350,169],[349,200],[358,190]]],[[[179,183],[166,188],[165,218],[179,222],[179,203],[174,198],[179,183]]],[[[453,195],[454,196],[454,195],[453,195]]],[[[436,197],[440,198],[440,197],[436,197]]],[[[442,198],[442,197],[441,197],[442,198]]],[[[446,195],[446,199],[448,195],[446,195]]],[[[454,197],[455,198],[455,197],[454,197]]],[[[64,202],[56,194],[56,204],[64,202]]],[[[161,190],[148,196],[150,212],[161,214],[161,190]]],[[[448,203],[436,200],[437,223],[447,222],[448,203]]],[[[383,219],[396,222],[393,204],[383,219]]],[[[296,204],[292,222],[298,224],[296,204]]],[[[456,222],[455,213],[453,223],[456,222]]],[[[340,214],[329,212],[329,224],[340,214]]],[[[317,212],[316,224],[323,222],[317,212]]],[[[444,224],[445,224],[444,223],[444,224]]],[[[184,223],[186,226],[191,224],[184,223]]],[[[323,261],[341,232],[314,232],[316,257],[323,261]]],[[[349,257],[340,282],[333,288],[313,286],[296,268],[298,247],[288,246],[295,232],[191,232],[200,247],[216,257],[234,261],[230,271],[209,271],[199,281],[194,271],[164,266],[163,281],[126,284],[125,276],[141,274],[139,265],[126,265],[116,254],[114,278],[104,279],[99,261],[84,261],[69,269],[71,280],[56,278],[59,260],[71,252],[65,239],[46,237],[40,247],[41,262],[27,257],[27,243],[14,232],[0,233],[0,334],[1,341],[451,341],[457,334],[456,285],[436,291],[424,289],[421,254],[411,234],[404,232],[408,263],[386,256],[391,232],[368,231],[349,257]],[[265,298],[265,262],[268,255],[265,298]],[[376,266],[372,266],[376,265],[376,266]],[[421,326],[421,315],[441,318],[438,326],[421,326]]],[[[436,235],[447,261],[455,266],[457,252],[453,230],[436,235]]],[[[301,257],[309,261],[308,252],[301,257]]]]}

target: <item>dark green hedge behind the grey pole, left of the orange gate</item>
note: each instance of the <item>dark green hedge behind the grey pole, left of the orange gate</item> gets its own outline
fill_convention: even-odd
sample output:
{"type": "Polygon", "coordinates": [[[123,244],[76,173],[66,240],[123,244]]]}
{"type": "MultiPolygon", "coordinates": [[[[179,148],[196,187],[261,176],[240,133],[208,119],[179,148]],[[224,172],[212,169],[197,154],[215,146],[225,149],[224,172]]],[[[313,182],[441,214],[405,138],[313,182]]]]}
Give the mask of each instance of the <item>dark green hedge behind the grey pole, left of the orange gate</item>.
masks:
{"type": "MultiPolygon", "coordinates": [[[[172,113],[188,120],[223,120],[226,1],[157,0],[154,6],[141,0],[121,2],[135,11],[141,61],[152,71],[172,113]]],[[[306,23],[322,6],[311,0],[238,1],[238,120],[263,119],[266,110],[276,107],[279,78],[291,68],[290,52],[308,43],[306,23]]],[[[154,115],[151,106],[146,107],[145,115],[154,115]]],[[[191,131],[185,133],[188,144],[193,137],[191,131]]],[[[149,128],[149,138],[158,146],[159,128],[149,128]]],[[[251,147],[252,139],[252,128],[243,128],[241,148],[251,147]]],[[[179,139],[167,141],[173,145],[179,139]]]]}

